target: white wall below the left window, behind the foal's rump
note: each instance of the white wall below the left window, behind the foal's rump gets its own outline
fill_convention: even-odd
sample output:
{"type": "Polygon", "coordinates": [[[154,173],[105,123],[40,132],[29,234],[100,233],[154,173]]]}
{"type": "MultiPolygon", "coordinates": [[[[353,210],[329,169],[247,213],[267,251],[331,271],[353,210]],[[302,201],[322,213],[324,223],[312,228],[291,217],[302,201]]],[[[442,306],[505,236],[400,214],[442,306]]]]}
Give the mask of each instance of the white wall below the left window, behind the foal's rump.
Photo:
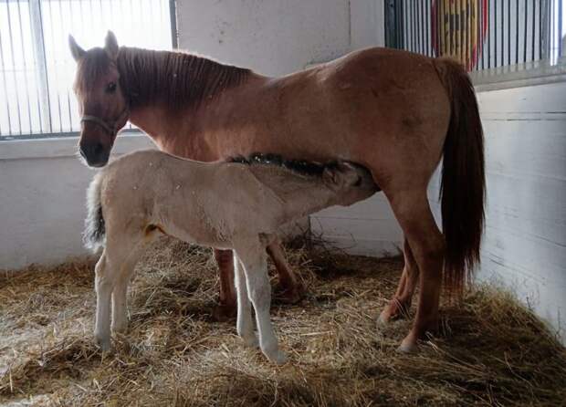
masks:
{"type": "MultiPolygon", "coordinates": [[[[152,147],[120,136],[114,155],[152,147]]],[[[94,171],[79,162],[74,138],[0,142],[0,269],[86,255],[81,234],[94,171]]]]}

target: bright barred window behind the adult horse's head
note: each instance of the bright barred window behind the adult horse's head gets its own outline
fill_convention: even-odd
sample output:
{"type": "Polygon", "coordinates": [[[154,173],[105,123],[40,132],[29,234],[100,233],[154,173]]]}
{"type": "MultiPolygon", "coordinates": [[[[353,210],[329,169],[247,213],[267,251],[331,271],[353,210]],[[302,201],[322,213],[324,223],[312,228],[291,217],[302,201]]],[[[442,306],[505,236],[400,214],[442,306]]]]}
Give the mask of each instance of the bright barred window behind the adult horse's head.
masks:
{"type": "Polygon", "coordinates": [[[72,34],[102,47],[176,47],[173,0],[0,0],[0,140],[74,135],[72,34]],[[173,16],[173,18],[172,18],[173,16]]]}

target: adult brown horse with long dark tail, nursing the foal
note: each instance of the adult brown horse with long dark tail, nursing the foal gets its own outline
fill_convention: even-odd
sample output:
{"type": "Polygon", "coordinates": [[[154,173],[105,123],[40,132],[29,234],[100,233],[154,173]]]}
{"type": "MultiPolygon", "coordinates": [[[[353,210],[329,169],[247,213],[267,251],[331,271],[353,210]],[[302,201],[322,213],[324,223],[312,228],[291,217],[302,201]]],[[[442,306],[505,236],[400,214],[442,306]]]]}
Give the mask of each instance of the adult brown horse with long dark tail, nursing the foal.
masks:
{"type": "Polygon", "coordinates": [[[455,62],[369,48],[267,78],[182,52],[118,47],[111,33],[104,48],[85,51],[72,37],[70,48],[80,151],[91,166],[108,162],[130,120],[163,151],[194,160],[266,151],[369,168],[404,231],[403,275],[380,321],[403,314],[420,285],[400,350],[435,328],[443,279],[461,292],[471,276],[484,224],[483,132],[472,84],[455,62]],[[444,235],[426,195],[441,157],[444,235]]]}

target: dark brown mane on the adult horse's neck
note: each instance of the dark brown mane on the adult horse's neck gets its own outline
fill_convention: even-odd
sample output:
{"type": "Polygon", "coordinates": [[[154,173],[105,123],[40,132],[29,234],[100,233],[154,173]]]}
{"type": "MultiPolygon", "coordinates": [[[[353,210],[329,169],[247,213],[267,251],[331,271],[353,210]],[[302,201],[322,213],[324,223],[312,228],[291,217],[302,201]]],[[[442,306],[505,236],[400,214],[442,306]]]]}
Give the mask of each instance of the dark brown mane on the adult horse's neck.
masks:
{"type": "Polygon", "coordinates": [[[251,71],[184,52],[121,47],[118,56],[121,89],[131,106],[146,101],[170,109],[198,106],[222,90],[246,81],[251,71]]]}

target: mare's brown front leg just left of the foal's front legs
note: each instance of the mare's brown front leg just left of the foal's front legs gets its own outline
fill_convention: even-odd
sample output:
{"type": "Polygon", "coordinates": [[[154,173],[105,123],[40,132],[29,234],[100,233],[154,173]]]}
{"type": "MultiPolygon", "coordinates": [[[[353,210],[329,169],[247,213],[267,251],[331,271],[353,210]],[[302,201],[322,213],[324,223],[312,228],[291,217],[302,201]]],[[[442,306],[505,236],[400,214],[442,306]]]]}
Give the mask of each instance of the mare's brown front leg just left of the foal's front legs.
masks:
{"type": "Polygon", "coordinates": [[[232,250],[214,249],[220,276],[220,304],[213,311],[216,320],[225,320],[236,315],[236,290],[234,288],[234,256],[232,250]]]}

